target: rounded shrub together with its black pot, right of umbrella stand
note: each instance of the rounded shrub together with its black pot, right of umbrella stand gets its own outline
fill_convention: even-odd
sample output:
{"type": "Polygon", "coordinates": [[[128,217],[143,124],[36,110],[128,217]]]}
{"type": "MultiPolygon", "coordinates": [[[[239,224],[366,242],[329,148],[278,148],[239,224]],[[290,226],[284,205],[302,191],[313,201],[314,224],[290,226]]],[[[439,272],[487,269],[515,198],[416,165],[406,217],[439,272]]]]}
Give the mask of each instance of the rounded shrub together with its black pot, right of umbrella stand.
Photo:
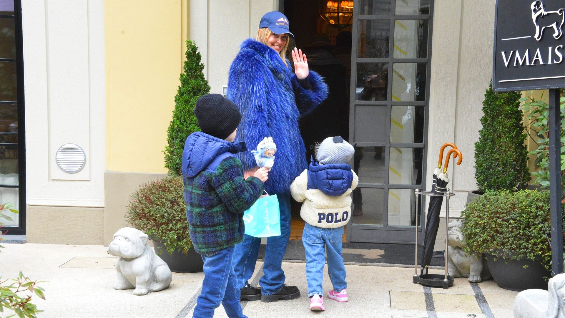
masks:
{"type": "MultiPolygon", "coordinates": [[[[485,254],[498,286],[547,289],[551,277],[549,191],[486,192],[461,212],[464,250],[485,254]]],[[[565,219],[564,219],[565,220],[565,219]]]]}

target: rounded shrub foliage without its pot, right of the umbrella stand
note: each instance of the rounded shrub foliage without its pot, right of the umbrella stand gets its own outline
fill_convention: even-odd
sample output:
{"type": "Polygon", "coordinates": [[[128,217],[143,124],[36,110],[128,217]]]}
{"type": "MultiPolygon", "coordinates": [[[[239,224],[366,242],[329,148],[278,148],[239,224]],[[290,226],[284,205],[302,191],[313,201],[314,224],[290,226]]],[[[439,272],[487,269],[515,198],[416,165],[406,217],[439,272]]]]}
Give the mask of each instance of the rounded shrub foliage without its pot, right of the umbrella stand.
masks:
{"type": "Polygon", "coordinates": [[[467,253],[514,260],[538,256],[551,272],[549,191],[487,192],[468,204],[461,217],[467,253]]]}

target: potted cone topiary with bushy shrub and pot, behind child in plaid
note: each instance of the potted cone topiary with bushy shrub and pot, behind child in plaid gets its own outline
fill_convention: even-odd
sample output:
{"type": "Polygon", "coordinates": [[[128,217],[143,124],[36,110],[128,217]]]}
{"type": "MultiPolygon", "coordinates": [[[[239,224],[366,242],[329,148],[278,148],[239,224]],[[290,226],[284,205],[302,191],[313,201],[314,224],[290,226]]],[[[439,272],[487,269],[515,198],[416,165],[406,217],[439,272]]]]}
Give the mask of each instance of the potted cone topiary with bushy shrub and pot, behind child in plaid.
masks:
{"type": "Polygon", "coordinates": [[[210,91],[194,41],[186,41],[185,57],[164,149],[168,175],[140,186],[127,209],[129,224],[149,235],[157,253],[177,273],[202,272],[202,257],[194,251],[186,221],[181,161],[186,137],[200,130],[193,114],[194,105],[210,91]],[[162,253],[163,250],[167,252],[162,253]]]}

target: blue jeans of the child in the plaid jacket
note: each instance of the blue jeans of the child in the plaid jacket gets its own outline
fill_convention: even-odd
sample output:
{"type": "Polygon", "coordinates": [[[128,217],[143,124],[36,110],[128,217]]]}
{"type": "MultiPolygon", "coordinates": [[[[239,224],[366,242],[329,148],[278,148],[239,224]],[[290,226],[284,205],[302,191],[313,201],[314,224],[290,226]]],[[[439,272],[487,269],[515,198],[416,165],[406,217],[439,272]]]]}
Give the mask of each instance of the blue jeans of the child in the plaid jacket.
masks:
{"type": "Polygon", "coordinates": [[[233,272],[233,250],[231,246],[211,255],[202,255],[204,281],[193,318],[214,317],[214,310],[220,306],[220,302],[228,317],[247,318],[241,310],[240,289],[236,286],[233,272]]]}

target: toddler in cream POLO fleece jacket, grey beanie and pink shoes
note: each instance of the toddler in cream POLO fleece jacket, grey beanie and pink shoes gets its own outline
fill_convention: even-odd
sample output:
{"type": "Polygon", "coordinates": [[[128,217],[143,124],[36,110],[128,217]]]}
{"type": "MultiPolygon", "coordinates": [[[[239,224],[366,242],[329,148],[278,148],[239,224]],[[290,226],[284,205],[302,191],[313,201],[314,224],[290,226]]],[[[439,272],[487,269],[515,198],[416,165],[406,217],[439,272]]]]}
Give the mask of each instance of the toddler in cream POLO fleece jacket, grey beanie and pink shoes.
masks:
{"type": "Polygon", "coordinates": [[[294,200],[303,202],[300,216],[306,221],[302,243],[306,252],[306,280],[310,310],[323,311],[322,277],[325,251],[333,289],[328,297],[347,302],[344,259],[341,257],[344,226],[351,218],[351,191],[359,182],[347,164],[355,149],[342,137],[328,137],[312,161],[290,185],[294,200]]]}

